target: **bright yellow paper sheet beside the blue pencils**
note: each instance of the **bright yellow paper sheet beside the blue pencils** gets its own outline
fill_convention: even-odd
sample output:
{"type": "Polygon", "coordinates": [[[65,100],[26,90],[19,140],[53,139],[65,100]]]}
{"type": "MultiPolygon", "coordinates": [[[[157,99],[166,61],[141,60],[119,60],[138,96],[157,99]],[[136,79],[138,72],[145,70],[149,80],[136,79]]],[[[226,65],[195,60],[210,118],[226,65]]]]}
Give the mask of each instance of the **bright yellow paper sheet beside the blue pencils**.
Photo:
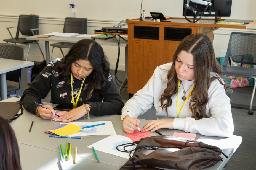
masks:
{"type": "Polygon", "coordinates": [[[55,133],[56,135],[59,135],[59,136],[68,136],[68,135],[72,135],[74,133],[79,132],[79,130],[81,130],[81,129],[82,129],[82,127],[69,123],[68,125],[63,126],[59,129],[48,130],[48,131],[55,133]]]}

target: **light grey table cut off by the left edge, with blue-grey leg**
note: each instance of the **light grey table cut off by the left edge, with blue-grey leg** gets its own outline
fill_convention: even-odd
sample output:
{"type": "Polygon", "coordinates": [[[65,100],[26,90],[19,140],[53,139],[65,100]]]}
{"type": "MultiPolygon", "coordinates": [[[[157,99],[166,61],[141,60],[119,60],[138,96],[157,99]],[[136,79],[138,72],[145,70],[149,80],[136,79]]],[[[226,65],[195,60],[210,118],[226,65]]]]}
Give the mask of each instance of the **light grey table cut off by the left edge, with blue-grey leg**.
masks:
{"type": "Polygon", "coordinates": [[[1,100],[7,99],[6,73],[20,68],[33,66],[34,62],[0,58],[0,93],[1,100]]]}

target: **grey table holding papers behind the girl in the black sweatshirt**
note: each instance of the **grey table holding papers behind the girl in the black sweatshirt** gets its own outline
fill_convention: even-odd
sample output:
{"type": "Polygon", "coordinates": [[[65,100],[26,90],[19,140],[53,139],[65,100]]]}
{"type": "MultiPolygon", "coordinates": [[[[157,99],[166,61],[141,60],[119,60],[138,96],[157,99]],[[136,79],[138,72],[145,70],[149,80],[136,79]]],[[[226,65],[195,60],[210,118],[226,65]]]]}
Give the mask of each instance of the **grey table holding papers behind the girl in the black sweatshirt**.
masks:
{"type": "MultiPolygon", "coordinates": [[[[40,34],[43,35],[43,34],[40,34]]],[[[81,35],[81,34],[80,34],[81,35]]],[[[46,63],[50,62],[50,44],[49,41],[54,41],[54,42],[70,42],[70,43],[76,43],[79,40],[82,39],[89,39],[89,38],[82,38],[82,37],[56,37],[51,35],[48,38],[38,38],[37,36],[39,35],[34,35],[30,37],[26,37],[27,40],[39,40],[39,41],[44,41],[45,42],[45,55],[46,55],[46,63]]],[[[117,37],[118,38],[118,37],[117,37]]],[[[110,46],[117,46],[117,42],[113,39],[95,39],[100,45],[110,45],[110,46]]],[[[120,47],[125,47],[125,58],[127,58],[127,41],[120,40],[120,47]]]]}

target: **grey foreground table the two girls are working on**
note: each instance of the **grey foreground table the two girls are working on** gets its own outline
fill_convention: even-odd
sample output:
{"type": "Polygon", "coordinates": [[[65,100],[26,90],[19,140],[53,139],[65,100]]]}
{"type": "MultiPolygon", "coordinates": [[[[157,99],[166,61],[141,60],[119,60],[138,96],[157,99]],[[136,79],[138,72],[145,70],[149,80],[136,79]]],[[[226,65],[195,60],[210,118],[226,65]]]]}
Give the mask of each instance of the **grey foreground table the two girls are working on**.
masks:
{"type": "MultiPolygon", "coordinates": [[[[5,102],[17,101],[18,98],[9,98],[5,102]]],[[[49,104],[49,103],[44,103],[49,104]]],[[[52,104],[55,106],[56,104],[52,104]]],[[[86,118],[81,118],[74,122],[94,122],[94,121],[112,121],[113,126],[116,130],[116,134],[126,136],[121,126],[121,116],[120,115],[107,115],[91,118],[88,120],[86,118]]],[[[141,128],[148,120],[141,120],[141,128]]],[[[97,135],[97,136],[84,136],[84,139],[66,139],[66,138],[49,138],[49,134],[44,133],[45,130],[54,128],[59,125],[60,122],[54,122],[50,120],[43,120],[36,115],[33,115],[24,109],[23,115],[21,115],[16,120],[10,122],[13,130],[15,131],[18,144],[20,146],[21,164],[23,170],[26,169],[56,169],[58,160],[60,159],[60,153],[58,146],[60,143],[63,144],[64,148],[67,141],[72,144],[72,148],[77,146],[78,148],[78,164],[72,164],[70,169],[85,169],[85,167],[90,167],[90,169],[119,169],[127,159],[121,158],[119,156],[111,155],[105,152],[97,151],[100,163],[97,163],[94,153],[91,148],[87,146],[102,140],[109,135],[97,135]],[[31,132],[28,132],[32,120],[34,121],[31,132]],[[28,151],[30,151],[28,153],[28,151]],[[40,153],[40,154],[39,154],[40,153]],[[40,157],[40,160],[39,160],[40,157]],[[33,162],[33,165],[28,166],[33,162]],[[41,168],[40,168],[41,167],[41,168]]],[[[160,132],[163,135],[172,135],[174,132],[183,132],[181,130],[169,130],[161,129],[160,132]]],[[[152,136],[158,135],[155,132],[151,133],[152,136]]],[[[202,135],[197,134],[196,139],[202,135]]],[[[231,138],[222,137],[209,137],[213,139],[223,139],[229,140],[225,142],[222,146],[219,146],[222,151],[230,158],[236,149],[241,144],[242,137],[232,136],[231,138]],[[231,142],[232,141],[232,142],[231,142]]],[[[74,149],[71,153],[74,154],[74,149]]],[[[222,156],[222,155],[221,155],[222,156]]],[[[206,170],[221,170],[223,166],[227,163],[229,158],[223,157],[223,162],[218,162],[214,166],[207,168],[206,170]]],[[[66,163],[67,161],[65,161],[66,163]]],[[[66,168],[68,169],[68,168],[66,168]]]]}

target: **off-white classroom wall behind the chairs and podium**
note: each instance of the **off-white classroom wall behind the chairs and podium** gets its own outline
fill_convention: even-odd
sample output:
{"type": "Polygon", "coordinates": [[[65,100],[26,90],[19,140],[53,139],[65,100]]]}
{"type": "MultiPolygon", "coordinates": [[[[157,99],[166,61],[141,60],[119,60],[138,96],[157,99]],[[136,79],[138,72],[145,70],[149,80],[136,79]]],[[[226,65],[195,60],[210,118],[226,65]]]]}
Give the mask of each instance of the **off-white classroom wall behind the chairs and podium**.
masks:
{"type": "MultiPolygon", "coordinates": [[[[0,42],[3,39],[10,38],[5,27],[15,26],[12,28],[12,34],[15,36],[17,29],[18,15],[36,14],[39,15],[39,33],[62,32],[64,18],[70,17],[71,9],[69,4],[75,4],[76,17],[88,18],[87,33],[92,34],[94,29],[101,27],[112,27],[120,20],[139,18],[140,17],[140,0],[8,0],[1,1],[0,6],[0,42]]],[[[248,19],[256,20],[254,0],[233,0],[231,17],[228,19],[248,19]]],[[[183,17],[183,0],[144,0],[143,7],[145,16],[149,12],[162,12],[170,17],[183,17]]],[[[227,49],[229,35],[231,32],[253,32],[256,33],[256,26],[247,30],[239,29],[218,29],[214,31],[214,48],[216,57],[224,54],[227,49]]],[[[39,42],[44,51],[44,42],[39,42]]],[[[50,42],[53,43],[53,42],[50,42]]],[[[27,49],[27,48],[26,48],[27,49]]],[[[111,68],[115,67],[117,59],[117,47],[103,46],[108,56],[111,68]]],[[[51,48],[50,48],[51,50],[51,48]]],[[[54,58],[61,57],[59,49],[54,50],[54,58]]],[[[41,61],[42,56],[36,45],[31,46],[29,59],[41,61]]],[[[124,48],[121,48],[119,60],[119,70],[124,70],[124,48]]]]}

